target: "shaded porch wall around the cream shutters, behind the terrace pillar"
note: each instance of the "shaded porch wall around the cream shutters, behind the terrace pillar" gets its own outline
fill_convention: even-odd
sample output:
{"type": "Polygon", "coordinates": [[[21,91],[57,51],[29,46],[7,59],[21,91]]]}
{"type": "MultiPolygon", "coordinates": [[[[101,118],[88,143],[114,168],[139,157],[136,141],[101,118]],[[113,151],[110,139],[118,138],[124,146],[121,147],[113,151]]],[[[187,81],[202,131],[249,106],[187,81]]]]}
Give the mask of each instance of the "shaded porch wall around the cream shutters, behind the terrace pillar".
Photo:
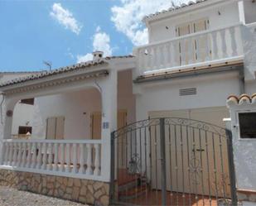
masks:
{"type": "MultiPolygon", "coordinates": [[[[62,116],[65,117],[65,139],[90,139],[90,114],[101,111],[101,102],[97,89],[36,98],[32,137],[45,138],[47,117],[62,116]]],[[[135,121],[132,70],[118,72],[118,109],[127,110],[128,122],[135,121]]]]}

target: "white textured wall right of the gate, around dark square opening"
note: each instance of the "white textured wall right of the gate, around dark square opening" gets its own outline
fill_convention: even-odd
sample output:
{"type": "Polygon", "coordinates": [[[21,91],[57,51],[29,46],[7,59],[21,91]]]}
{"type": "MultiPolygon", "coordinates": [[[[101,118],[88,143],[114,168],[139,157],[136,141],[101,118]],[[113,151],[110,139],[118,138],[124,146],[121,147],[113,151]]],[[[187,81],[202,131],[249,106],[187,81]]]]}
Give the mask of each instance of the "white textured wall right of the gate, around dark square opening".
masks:
{"type": "Polygon", "coordinates": [[[254,204],[246,203],[244,205],[256,205],[256,141],[254,138],[241,139],[239,137],[238,117],[238,113],[255,113],[256,103],[255,99],[239,99],[239,103],[232,98],[227,101],[231,121],[226,123],[232,131],[237,194],[238,199],[243,201],[243,204],[244,201],[254,202],[254,204]]]}

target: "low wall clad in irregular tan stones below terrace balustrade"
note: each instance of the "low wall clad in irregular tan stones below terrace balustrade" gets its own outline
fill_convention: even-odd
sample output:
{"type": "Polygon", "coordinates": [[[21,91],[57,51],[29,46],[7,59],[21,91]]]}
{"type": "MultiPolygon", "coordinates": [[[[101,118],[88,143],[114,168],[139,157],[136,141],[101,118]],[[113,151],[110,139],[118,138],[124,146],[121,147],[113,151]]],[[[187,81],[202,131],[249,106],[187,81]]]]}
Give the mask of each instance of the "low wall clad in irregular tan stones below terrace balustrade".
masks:
{"type": "Polygon", "coordinates": [[[95,180],[1,169],[0,185],[83,204],[109,204],[109,183],[95,180]]]}

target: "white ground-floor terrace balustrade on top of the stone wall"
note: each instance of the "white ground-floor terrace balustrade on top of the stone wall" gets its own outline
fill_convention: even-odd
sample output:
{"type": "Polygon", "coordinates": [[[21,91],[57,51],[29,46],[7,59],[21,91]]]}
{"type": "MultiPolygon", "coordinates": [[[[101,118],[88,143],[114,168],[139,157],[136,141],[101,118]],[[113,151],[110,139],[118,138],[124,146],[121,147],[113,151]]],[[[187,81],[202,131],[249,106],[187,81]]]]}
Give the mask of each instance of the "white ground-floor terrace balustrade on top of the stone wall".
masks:
{"type": "Polygon", "coordinates": [[[2,141],[0,168],[101,180],[101,140],[2,141]]]}

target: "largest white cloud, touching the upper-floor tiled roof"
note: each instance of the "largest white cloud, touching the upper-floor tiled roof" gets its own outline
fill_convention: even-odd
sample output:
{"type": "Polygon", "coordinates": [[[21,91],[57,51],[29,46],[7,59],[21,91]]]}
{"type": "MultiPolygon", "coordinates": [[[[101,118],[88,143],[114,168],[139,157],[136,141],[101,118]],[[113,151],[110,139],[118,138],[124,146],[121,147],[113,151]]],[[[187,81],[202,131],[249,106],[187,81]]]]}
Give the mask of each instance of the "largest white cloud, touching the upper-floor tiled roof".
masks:
{"type": "MultiPolygon", "coordinates": [[[[173,0],[174,3],[188,0],[173,0]]],[[[114,26],[123,32],[135,46],[147,44],[147,29],[142,18],[148,14],[171,7],[171,0],[121,0],[121,6],[111,8],[114,26]]]]}

